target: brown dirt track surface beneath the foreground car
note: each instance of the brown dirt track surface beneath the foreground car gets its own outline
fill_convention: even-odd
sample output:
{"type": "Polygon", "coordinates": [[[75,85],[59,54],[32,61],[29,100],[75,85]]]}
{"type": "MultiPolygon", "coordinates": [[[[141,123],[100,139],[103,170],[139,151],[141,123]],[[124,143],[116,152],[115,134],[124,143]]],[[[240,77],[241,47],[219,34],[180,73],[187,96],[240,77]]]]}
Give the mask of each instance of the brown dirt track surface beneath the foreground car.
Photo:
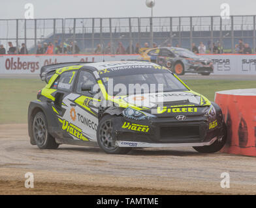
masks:
{"type": "Polygon", "coordinates": [[[192,148],[134,149],[106,155],[99,148],[29,144],[27,125],[0,125],[0,194],[256,194],[256,159],[192,148]],[[25,188],[33,172],[35,188],[25,188]],[[229,172],[231,188],[221,188],[229,172]]]}

